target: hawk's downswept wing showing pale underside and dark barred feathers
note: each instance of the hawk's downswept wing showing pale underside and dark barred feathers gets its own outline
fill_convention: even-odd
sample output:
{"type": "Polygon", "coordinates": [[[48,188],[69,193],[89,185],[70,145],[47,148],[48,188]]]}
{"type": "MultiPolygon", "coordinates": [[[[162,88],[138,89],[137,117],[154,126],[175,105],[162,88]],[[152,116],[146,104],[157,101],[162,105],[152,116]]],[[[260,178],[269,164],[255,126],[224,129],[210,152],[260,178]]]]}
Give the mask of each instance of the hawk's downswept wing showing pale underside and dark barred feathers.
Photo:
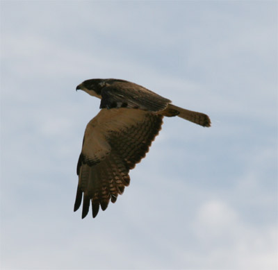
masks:
{"type": "Polygon", "coordinates": [[[92,217],[99,205],[106,210],[118,194],[129,185],[129,170],[145,157],[152,141],[161,130],[162,115],[136,109],[103,109],[85,129],[77,174],[74,211],[83,196],[84,218],[92,204],[92,217]]]}

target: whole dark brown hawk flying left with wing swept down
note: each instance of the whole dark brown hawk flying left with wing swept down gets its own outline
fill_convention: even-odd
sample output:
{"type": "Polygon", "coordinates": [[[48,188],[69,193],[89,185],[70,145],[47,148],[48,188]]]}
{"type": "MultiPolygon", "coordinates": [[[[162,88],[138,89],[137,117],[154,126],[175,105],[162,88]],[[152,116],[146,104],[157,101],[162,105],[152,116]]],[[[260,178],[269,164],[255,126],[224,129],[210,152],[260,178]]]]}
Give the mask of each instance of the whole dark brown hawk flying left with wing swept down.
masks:
{"type": "Polygon", "coordinates": [[[92,217],[99,205],[106,210],[129,185],[129,170],[145,158],[163,123],[178,116],[201,126],[211,126],[207,115],[172,105],[169,99],[129,81],[91,79],[76,87],[101,99],[100,112],[87,125],[77,164],[79,183],[74,211],[83,197],[82,219],[92,217]]]}

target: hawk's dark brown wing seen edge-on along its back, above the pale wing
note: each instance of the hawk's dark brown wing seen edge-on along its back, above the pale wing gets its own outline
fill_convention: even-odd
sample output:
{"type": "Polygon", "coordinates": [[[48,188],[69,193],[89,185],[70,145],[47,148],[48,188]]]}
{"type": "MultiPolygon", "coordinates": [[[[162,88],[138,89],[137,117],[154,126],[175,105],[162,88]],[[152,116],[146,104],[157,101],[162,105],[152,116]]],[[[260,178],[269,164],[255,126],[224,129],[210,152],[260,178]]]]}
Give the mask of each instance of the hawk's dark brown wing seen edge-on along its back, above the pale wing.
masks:
{"type": "Polygon", "coordinates": [[[128,81],[115,81],[101,90],[100,108],[139,108],[158,112],[169,103],[169,99],[128,81]]]}

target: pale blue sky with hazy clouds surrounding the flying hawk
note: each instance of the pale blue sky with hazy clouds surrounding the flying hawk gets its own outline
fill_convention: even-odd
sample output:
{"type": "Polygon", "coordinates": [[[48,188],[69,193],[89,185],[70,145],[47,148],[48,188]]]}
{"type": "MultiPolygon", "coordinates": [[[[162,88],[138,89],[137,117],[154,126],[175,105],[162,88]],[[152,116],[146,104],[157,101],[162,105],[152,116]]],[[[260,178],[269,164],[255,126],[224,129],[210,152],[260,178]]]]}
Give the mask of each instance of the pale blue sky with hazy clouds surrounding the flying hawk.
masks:
{"type": "Polygon", "coordinates": [[[277,1],[1,1],[1,269],[277,269],[277,1]],[[121,78],[165,118],[131,185],[73,212],[76,162],[121,78]]]}

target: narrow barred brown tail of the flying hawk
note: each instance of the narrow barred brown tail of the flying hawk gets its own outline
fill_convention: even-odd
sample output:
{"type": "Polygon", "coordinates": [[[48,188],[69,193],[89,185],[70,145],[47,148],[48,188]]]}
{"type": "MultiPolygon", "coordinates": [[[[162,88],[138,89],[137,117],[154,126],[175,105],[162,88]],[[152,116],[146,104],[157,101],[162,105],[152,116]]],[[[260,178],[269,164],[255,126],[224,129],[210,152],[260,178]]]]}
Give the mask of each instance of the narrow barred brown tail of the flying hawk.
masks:
{"type": "Polygon", "coordinates": [[[202,112],[193,112],[193,110],[186,110],[169,104],[165,110],[163,110],[162,115],[166,117],[178,116],[188,121],[191,121],[200,126],[211,126],[211,119],[208,115],[205,115],[202,112]]]}

